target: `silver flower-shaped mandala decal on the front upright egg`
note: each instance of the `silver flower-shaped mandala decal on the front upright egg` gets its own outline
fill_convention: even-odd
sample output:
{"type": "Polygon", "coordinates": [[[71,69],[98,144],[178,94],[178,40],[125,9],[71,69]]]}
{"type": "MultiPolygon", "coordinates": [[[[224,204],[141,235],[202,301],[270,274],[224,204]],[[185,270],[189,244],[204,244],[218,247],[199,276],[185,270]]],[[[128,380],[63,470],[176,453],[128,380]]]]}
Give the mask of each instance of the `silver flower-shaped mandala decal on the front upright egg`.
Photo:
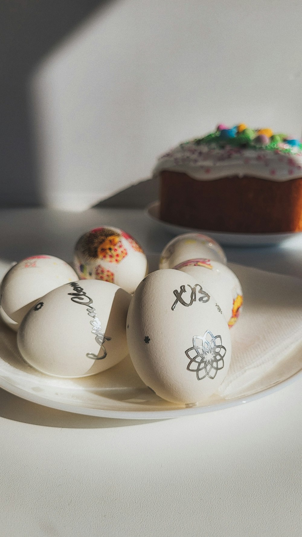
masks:
{"type": "Polygon", "coordinates": [[[193,337],[193,346],[185,351],[190,363],[188,371],[194,371],[198,380],[214,379],[217,371],[224,367],[226,348],[222,345],[221,336],[213,336],[207,330],[203,336],[193,337]]]}

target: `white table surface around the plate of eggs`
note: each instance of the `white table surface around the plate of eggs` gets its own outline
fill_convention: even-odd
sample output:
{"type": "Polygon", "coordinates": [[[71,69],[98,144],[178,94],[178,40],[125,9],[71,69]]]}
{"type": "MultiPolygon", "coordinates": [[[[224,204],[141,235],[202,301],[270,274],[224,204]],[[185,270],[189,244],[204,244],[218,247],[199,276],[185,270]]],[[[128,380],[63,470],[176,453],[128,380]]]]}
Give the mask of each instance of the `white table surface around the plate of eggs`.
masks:
{"type": "MultiPolygon", "coordinates": [[[[171,236],[142,211],[0,212],[0,268],[72,259],[84,231],[171,236]]],[[[302,277],[302,238],[226,249],[229,261],[302,277]]],[[[302,380],[222,411],[154,422],[48,409],[0,390],[2,537],[301,537],[302,380]]]]}

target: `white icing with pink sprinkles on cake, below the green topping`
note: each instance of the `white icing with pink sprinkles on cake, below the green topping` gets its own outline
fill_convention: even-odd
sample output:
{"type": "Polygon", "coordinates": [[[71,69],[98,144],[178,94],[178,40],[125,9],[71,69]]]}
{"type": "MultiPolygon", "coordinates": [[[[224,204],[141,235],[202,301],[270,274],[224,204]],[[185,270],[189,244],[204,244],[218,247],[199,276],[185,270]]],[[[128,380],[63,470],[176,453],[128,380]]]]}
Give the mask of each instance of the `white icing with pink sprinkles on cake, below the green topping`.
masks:
{"type": "MultiPolygon", "coordinates": [[[[283,148],[289,148],[282,144],[283,148]]],[[[271,181],[288,181],[302,177],[302,153],[257,148],[217,147],[215,143],[181,144],[161,156],[153,175],[163,170],[178,171],[194,179],[209,181],[228,176],[251,176],[271,181]]]]}

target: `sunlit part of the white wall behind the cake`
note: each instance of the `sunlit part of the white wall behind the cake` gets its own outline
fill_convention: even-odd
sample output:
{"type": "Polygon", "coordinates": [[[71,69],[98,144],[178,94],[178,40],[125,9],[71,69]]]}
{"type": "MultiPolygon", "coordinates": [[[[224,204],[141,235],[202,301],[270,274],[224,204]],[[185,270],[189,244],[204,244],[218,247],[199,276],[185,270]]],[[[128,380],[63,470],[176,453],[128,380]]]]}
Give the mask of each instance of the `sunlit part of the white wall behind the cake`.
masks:
{"type": "Polygon", "coordinates": [[[81,209],[219,122],[296,136],[301,0],[116,0],[35,71],[41,197],[81,209]]]}

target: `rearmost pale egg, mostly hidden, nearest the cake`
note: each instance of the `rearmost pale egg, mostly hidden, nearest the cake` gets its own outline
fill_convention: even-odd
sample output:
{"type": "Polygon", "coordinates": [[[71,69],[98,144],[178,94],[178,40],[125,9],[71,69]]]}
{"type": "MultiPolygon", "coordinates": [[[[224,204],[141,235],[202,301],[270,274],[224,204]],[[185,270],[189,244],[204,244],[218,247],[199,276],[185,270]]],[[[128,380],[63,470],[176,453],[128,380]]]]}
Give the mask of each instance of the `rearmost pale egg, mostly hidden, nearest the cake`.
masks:
{"type": "Polygon", "coordinates": [[[174,269],[187,259],[211,259],[226,264],[221,246],[211,237],[201,233],[185,233],[173,238],[164,247],[160,258],[160,269],[174,269]]]}

